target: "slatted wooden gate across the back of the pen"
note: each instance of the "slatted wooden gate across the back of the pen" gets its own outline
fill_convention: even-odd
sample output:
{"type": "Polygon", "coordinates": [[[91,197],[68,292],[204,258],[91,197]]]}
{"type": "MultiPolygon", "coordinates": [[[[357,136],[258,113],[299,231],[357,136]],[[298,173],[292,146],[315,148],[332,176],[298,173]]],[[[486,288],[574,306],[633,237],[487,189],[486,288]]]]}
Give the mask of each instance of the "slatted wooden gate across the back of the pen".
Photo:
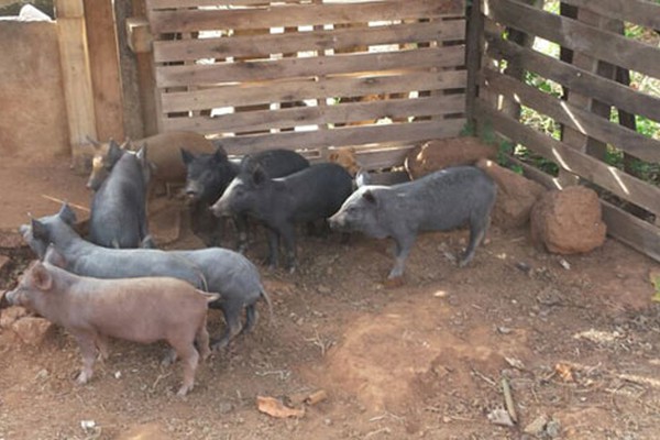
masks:
{"type": "Polygon", "coordinates": [[[147,0],[158,131],[230,154],[355,146],[367,168],[465,123],[463,0],[147,0]]]}

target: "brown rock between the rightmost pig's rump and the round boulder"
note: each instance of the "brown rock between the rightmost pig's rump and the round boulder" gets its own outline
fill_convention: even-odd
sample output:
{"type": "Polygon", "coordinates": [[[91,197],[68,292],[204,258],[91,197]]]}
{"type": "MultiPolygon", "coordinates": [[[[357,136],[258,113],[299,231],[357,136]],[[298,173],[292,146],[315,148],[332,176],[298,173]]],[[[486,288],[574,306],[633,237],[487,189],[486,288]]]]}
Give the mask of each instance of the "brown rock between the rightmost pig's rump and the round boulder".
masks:
{"type": "Polygon", "coordinates": [[[502,229],[516,229],[527,224],[531,208],[547,189],[493,161],[481,160],[476,166],[485,170],[497,184],[493,223],[502,229]]]}

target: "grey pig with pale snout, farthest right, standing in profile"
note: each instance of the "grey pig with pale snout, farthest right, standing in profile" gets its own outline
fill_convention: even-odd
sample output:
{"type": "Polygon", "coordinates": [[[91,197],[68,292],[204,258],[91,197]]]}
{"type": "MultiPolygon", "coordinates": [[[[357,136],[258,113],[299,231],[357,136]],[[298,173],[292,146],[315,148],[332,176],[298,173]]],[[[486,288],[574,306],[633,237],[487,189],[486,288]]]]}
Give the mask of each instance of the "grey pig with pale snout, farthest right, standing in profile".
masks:
{"type": "Polygon", "coordinates": [[[482,169],[458,166],[418,180],[394,185],[364,185],[334,213],[330,228],[358,231],[395,241],[395,265],[387,278],[400,280],[410,249],[420,231],[470,227],[470,241],[460,266],[470,263],[483,241],[495,205],[496,186],[482,169]]]}

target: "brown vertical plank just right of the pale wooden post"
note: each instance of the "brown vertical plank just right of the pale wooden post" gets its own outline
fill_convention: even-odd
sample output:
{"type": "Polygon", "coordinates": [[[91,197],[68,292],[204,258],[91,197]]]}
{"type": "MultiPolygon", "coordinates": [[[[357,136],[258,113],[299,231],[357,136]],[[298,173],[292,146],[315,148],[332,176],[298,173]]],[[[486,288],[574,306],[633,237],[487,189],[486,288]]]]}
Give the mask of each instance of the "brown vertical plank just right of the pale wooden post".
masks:
{"type": "Polygon", "coordinates": [[[124,138],[119,57],[112,0],[84,0],[97,135],[124,138]]]}

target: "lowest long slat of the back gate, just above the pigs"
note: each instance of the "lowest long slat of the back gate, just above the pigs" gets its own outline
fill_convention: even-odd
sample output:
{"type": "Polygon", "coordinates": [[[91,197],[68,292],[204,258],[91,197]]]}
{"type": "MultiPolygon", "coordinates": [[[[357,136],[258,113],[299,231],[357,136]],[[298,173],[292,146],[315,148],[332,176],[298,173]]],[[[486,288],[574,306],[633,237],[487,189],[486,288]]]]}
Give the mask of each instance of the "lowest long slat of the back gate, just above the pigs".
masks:
{"type": "Polygon", "coordinates": [[[382,142],[421,142],[430,139],[457,136],[465,119],[435,120],[402,124],[348,127],[310,132],[284,132],[223,138],[222,146],[229,154],[250,154],[271,148],[318,148],[324,146],[377,145],[382,142]]]}

